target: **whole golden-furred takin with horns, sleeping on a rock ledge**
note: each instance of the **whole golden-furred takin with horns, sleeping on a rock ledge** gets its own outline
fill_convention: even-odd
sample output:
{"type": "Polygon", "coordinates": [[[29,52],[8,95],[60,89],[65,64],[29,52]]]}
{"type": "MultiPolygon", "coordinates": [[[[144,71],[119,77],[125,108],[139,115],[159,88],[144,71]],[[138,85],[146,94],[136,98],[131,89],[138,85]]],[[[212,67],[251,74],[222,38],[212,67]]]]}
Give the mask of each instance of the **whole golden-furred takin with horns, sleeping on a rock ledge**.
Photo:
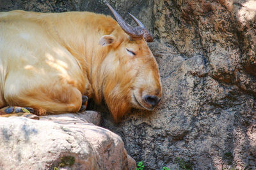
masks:
{"type": "Polygon", "coordinates": [[[90,12],[1,12],[0,108],[77,112],[87,96],[105,101],[116,122],[131,108],[152,110],[161,97],[152,36],[109,8],[118,22],[90,12]]]}

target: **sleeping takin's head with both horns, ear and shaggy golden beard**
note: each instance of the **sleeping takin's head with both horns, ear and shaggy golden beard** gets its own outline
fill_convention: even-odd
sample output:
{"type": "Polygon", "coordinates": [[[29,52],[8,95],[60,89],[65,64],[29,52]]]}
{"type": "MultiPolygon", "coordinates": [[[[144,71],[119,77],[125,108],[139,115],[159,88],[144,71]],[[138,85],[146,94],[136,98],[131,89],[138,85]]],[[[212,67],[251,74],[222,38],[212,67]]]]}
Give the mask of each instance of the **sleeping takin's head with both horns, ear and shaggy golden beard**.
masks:
{"type": "Polygon", "coordinates": [[[153,110],[161,99],[162,87],[156,59],[147,45],[153,41],[150,32],[131,14],[139,27],[131,27],[108,7],[120,29],[100,38],[100,45],[107,46],[109,52],[99,74],[104,99],[118,122],[131,108],[153,110]]]}

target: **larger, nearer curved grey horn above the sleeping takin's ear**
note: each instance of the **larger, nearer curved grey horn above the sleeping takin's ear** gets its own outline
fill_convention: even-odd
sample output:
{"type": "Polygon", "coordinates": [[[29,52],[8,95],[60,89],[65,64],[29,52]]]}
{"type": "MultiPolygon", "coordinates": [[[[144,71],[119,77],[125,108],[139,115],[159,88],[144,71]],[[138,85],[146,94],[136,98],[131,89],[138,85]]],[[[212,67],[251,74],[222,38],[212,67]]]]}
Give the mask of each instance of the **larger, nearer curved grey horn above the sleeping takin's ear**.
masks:
{"type": "Polygon", "coordinates": [[[127,24],[124,21],[124,19],[112,8],[112,6],[110,6],[110,4],[108,4],[108,3],[106,3],[106,4],[108,5],[109,10],[111,10],[111,12],[113,13],[113,15],[116,18],[116,21],[118,22],[120,27],[122,27],[124,32],[126,32],[132,38],[137,38],[137,39],[142,38],[144,31],[142,29],[140,29],[140,27],[136,27],[136,28],[131,27],[131,25],[127,24]]]}

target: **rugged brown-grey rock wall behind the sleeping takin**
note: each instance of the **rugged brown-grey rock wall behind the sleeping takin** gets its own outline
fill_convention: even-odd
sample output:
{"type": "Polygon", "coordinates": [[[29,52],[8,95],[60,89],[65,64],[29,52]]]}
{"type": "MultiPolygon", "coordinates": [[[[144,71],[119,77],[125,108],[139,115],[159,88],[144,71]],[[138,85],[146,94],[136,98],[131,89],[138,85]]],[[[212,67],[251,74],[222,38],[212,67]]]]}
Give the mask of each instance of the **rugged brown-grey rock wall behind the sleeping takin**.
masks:
{"type": "MultiPolygon", "coordinates": [[[[109,13],[105,2],[2,0],[0,10],[109,13]]],[[[134,110],[119,125],[105,116],[102,125],[147,169],[256,169],[256,2],[109,3],[154,32],[164,96],[153,113],[134,110]]]]}

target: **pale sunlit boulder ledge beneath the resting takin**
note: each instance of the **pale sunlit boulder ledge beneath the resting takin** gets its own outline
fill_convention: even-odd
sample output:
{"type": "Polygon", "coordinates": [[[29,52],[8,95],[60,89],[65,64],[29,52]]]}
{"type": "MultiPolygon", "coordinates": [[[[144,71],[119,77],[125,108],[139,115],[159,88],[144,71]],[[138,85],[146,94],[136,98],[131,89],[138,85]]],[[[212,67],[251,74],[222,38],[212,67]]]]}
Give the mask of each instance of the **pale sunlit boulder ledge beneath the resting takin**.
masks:
{"type": "Polygon", "coordinates": [[[87,117],[0,118],[0,169],[134,169],[122,139],[87,117]]]}

